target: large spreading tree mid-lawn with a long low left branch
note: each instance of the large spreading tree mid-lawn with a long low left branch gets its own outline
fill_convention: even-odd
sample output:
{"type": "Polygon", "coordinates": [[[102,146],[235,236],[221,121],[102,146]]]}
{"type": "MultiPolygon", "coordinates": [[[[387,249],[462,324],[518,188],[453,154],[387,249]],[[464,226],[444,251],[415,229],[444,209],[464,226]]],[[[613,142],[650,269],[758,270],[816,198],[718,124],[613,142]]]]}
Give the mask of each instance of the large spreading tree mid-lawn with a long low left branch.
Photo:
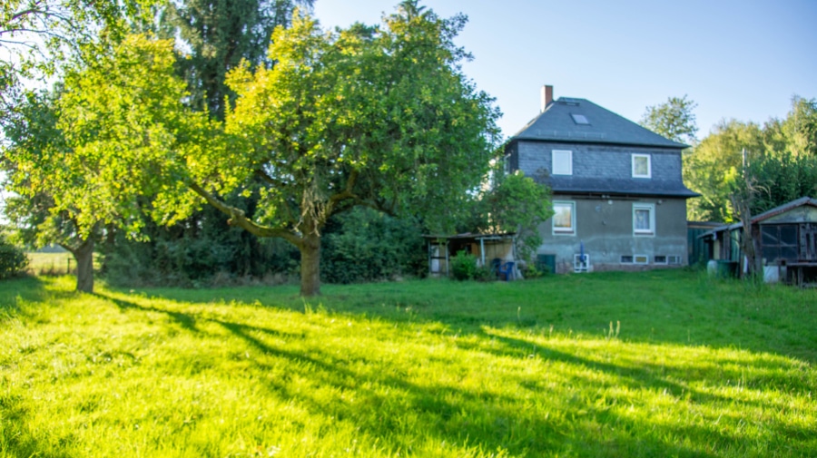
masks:
{"type": "Polygon", "coordinates": [[[485,178],[499,113],[459,68],[468,54],[453,39],[465,22],[414,1],[376,27],[326,32],[296,16],[273,34],[272,68],[229,75],[237,99],[222,135],[182,105],[171,46],[134,40],[141,51],[116,61],[139,54],[153,74],[90,68],[66,83],[76,87],[69,125],[99,145],[87,157],[101,177],[153,195],[155,218],[171,223],[206,202],[234,226],[289,241],[301,254],[301,294],[315,295],[321,230],[333,214],[362,205],[442,226],[466,212],[468,190],[485,178]],[[124,83],[99,81],[111,72],[124,83]],[[130,103],[148,112],[108,114],[130,103]],[[222,198],[233,191],[259,200],[254,214],[222,198]]]}

